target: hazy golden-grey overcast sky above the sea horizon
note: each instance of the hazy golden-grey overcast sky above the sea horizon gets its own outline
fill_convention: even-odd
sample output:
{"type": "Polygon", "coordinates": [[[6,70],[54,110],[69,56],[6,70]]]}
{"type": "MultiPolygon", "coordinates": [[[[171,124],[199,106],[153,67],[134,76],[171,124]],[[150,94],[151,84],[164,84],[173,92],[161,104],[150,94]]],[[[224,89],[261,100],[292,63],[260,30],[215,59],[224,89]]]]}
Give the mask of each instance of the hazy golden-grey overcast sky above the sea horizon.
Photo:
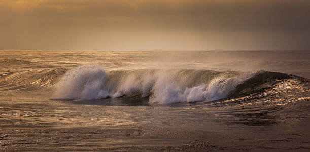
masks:
{"type": "Polygon", "coordinates": [[[310,50],[309,0],[0,0],[0,50],[310,50]]]}

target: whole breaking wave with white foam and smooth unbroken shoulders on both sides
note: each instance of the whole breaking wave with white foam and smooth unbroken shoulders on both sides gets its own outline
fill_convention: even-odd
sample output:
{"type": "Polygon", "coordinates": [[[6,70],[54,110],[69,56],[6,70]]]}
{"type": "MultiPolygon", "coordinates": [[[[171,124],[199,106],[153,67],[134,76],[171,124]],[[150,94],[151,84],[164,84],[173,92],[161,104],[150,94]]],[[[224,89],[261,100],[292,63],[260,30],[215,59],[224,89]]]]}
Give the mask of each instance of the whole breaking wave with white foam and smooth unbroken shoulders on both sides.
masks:
{"type": "Polygon", "coordinates": [[[309,82],[308,79],[295,75],[268,71],[255,73],[194,69],[105,71],[97,65],[83,65],[71,70],[54,68],[0,73],[0,90],[53,91],[55,92],[53,100],[93,100],[125,96],[145,98],[149,103],[169,104],[209,102],[266,93],[268,89],[286,83],[285,80],[298,81],[296,83],[300,84],[301,91],[302,85],[307,86],[309,82]]]}

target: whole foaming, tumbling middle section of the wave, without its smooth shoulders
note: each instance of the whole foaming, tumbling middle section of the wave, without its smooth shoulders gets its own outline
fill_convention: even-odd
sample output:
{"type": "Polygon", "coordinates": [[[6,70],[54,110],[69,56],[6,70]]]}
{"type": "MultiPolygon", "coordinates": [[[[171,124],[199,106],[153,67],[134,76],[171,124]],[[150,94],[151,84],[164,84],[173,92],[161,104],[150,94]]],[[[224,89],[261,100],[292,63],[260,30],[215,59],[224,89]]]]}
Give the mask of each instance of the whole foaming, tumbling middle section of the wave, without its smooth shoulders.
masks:
{"type": "Polygon", "coordinates": [[[106,72],[97,65],[83,65],[63,76],[54,99],[91,100],[139,93],[160,104],[212,101],[227,97],[249,77],[239,72],[184,69],[106,72]]]}

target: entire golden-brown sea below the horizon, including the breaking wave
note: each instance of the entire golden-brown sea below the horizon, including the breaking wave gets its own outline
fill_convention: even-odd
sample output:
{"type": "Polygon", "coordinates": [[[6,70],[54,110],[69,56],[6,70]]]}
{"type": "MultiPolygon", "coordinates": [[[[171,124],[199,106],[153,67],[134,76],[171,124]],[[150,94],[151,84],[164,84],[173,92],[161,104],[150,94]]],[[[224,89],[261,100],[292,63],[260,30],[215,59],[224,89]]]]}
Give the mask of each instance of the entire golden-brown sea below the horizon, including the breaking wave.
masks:
{"type": "Polygon", "coordinates": [[[309,151],[310,51],[0,51],[1,151],[309,151]]]}

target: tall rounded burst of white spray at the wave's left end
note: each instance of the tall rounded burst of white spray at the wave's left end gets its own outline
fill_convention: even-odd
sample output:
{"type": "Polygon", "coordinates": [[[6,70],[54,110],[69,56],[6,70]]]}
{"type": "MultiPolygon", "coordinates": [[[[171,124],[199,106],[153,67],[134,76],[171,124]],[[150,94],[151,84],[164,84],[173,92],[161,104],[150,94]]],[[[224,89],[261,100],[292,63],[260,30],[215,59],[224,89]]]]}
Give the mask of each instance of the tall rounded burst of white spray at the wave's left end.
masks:
{"type": "Polygon", "coordinates": [[[83,65],[68,71],[61,81],[54,99],[91,100],[108,97],[104,90],[106,72],[96,65],[83,65]]]}

